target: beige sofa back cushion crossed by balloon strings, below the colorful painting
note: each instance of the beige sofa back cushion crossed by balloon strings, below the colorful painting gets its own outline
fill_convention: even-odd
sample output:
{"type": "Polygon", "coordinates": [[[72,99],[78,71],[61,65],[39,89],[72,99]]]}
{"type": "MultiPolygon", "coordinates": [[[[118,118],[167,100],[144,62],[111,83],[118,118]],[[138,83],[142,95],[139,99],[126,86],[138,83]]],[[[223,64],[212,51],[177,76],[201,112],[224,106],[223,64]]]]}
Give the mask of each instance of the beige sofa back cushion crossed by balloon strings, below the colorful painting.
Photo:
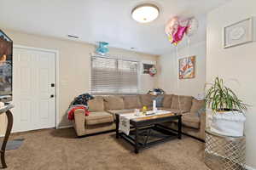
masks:
{"type": "Polygon", "coordinates": [[[192,96],[172,95],[171,109],[189,112],[192,105],[192,96]]]}

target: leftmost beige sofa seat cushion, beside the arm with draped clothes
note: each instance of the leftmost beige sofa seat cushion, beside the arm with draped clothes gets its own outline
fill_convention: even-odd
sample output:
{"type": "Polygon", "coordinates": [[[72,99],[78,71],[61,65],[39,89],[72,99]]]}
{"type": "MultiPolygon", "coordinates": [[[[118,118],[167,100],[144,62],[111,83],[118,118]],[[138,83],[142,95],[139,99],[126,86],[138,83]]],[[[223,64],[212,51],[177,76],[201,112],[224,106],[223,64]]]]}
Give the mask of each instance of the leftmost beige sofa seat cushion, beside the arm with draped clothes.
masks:
{"type": "Polygon", "coordinates": [[[96,125],[106,122],[113,122],[113,116],[105,111],[90,112],[89,116],[85,116],[86,125],[96,125]]]}

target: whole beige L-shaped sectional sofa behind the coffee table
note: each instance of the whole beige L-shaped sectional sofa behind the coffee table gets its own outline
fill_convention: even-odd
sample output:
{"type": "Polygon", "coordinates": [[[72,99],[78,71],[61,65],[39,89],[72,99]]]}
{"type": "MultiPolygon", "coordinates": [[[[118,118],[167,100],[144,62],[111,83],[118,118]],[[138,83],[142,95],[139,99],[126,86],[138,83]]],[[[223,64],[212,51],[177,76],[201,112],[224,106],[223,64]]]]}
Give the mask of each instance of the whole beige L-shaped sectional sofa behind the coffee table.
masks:
{"type": "MultiPolygon", "coordinates": [[[[108,95],[96,96],[89,101],[89,116],[84,116],[83,110],[74,113],[73,127],[78,136],[92,133],[102,133],[115,129],[115,113],[129,113],[134,109],[141,109],[144,105],[152,109],[154,96],[148,94],[137,95],[108,95]]],[[[191,96],[177,96],[165,94],[163,105],[159,109],[183,114],[183,133],[197,139],[205,139],[206,116],[198,115],[204,101],[191,96]]],[[[169,122],[166,126],[177,128],[177,122],[169,122]]]]}

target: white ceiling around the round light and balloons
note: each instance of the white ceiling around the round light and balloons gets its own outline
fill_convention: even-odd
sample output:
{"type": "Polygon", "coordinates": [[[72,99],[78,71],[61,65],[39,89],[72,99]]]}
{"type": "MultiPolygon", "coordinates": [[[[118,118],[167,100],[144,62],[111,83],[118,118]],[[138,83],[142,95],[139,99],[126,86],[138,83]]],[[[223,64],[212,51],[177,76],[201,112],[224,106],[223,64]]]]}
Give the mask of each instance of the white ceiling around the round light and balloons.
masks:
{"type": "Polygon", "coordinates": [[[164,27],[178,15],[196,16],[200,29],[191,42],[206,40],[205,14],[229,0],[154,0],[160,17],[139,24],[131,9],[142,0],[1,0],[0,27],[52,37],[79,37],[79,41],[109,42],[110,47],[165,54],[172,50],[164,27]]]}

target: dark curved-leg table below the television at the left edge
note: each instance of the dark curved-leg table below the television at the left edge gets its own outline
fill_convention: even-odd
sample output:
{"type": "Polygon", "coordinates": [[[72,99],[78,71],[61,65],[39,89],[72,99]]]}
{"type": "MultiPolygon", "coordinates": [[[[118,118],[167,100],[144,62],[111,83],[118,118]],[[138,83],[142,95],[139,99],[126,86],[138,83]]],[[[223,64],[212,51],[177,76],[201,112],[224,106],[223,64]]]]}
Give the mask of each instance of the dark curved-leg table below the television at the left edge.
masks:
{"type": "Polygon", "coordinates": [[[14,122],[13,114],[12,114],[11,111],[9,111],[13,107],[14,107],[14,105],[4,105],[3,108],[0,108],[0,115],[5,113],[6,116],[7,116],[7,119],[8,119],[8,124],[7,124],[6,132],[5,132],[5,135],[4,135],[3,144],[2,144],[2,147],[1,147],[1,150],[0,150],[1,162],[2,162],[3,168],[7,167],[4,155],[5,155],[6,144],[8,142],[9,135],[11,133],[11,130],[12,130],[12,127],[13,127],[13,122],[14,122]]]}

